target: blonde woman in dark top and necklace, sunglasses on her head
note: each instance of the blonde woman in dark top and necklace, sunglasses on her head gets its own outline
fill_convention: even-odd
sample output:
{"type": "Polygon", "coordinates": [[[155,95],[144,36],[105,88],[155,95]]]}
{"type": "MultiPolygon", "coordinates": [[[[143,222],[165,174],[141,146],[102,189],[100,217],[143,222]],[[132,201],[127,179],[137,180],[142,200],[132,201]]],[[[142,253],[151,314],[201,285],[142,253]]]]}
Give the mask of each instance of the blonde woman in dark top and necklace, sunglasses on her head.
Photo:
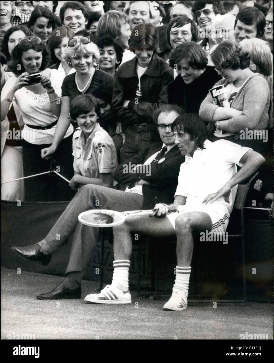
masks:
{"type": "Polygon", "coordinates": [[[90,41],[88,35],[75,36],[68,41],[65,49],[64,59],[76,72],[69,74],[62,83],[61,115],[56,126],[56,132],[52,145],[41,150],[42,158],[48,158],[56,150],[69,127],[69,107],[73,99],[84,93],[94,94],[102,87],[113,89],[114,78],[109,74],[95,70],[94,60],[99,57],[97,45],[90,41]]]}

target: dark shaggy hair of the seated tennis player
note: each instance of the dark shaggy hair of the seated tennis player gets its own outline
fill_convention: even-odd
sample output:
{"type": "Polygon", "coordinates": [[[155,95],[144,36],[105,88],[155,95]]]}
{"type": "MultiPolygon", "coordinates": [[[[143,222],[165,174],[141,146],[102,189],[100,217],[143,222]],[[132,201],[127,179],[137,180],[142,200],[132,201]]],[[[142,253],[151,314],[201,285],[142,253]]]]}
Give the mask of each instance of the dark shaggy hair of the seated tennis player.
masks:
{"type": "Polygon", "coordinates": [[[204,149],[205,140],[209,139],[209,133],[205,123],[195,113],[185,113],[178,116],[171,125],[172,131],[183,131],[190,136],[191,141],[196,140],[199,149],[204,149]]]}

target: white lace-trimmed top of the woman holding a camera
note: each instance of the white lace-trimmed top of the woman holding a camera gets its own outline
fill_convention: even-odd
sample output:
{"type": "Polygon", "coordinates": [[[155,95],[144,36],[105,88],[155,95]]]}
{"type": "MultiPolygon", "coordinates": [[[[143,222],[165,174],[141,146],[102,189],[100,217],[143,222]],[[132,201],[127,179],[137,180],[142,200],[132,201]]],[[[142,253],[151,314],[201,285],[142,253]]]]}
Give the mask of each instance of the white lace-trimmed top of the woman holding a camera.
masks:
{"type": "MultiPolygon", "coordinates": [[[[1,98],[4,98],[8,94],[15,80],[16,77],[11,77],[7,80],[3,87],[1,98]]],[[[62,79],[60,82],[62,84],[62,79]]],[[[46,126],[57,120],[57,117],[52,113],[49,97],[46,91],[40,95],[22,87],[20,90],[15,92],[13,102],[18,106],[25,123],[22,131],[22,138],[31,144],[51,144],[53,142],[56,126],[53,126],[48,130],[35,130],[26,126],[26,124],[46,126]]],[[[72,133],[73,126],[70,125],[64,138],[68,137],[72,133]]]]}

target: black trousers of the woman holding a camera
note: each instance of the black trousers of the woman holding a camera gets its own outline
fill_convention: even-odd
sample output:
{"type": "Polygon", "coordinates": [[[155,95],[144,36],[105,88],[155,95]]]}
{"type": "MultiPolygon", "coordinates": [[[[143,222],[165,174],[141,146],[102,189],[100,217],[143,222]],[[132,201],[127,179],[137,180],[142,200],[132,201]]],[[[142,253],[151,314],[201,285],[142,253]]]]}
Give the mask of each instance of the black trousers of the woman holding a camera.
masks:
{"type": "MultiPolygon", "coordinates": [[[[41,158],[41,150],[51,144],[30,144],[23,141],[24,176],[39,174],[50,170],[51,160],[41,158]]],[[[73,175],[72,135],[62,140],[54,153],[56,166],[61,175],[70,180],[73,175]]],[[[45,174],[24,179],[25,201],[64,201],[74,196],[69,183],[56,174],[45,174]]]]}

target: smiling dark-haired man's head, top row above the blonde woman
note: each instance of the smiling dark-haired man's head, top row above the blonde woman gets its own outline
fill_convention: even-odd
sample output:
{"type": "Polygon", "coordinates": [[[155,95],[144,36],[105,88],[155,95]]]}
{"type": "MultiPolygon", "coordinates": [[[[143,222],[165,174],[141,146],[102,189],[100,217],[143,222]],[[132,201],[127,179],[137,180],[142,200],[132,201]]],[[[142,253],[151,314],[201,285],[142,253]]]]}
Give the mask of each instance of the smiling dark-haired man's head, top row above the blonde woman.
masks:
{"type": "Polygon", "coordinates": [[[87,17],[85,6],[78,1],[67,1],[60,9],[62,24],[68,26],[74,33],[86,28],[87,17]]]}

